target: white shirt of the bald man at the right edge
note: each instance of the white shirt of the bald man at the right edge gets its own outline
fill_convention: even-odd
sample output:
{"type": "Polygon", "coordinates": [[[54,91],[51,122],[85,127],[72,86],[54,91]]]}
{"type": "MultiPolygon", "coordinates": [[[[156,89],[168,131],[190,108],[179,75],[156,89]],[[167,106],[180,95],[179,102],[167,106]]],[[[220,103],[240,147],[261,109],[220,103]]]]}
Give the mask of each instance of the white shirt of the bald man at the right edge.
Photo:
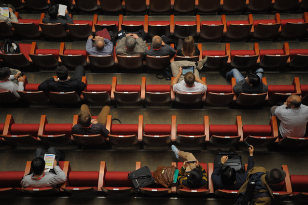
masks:
{"type": "Polygon", "coordinates": [[[280,119],[279,132],[283,137],[303,137],[306,133],[308,121],[308,107],[300,105],[298,108],[279,106],[275,115],[280,119]]]}

